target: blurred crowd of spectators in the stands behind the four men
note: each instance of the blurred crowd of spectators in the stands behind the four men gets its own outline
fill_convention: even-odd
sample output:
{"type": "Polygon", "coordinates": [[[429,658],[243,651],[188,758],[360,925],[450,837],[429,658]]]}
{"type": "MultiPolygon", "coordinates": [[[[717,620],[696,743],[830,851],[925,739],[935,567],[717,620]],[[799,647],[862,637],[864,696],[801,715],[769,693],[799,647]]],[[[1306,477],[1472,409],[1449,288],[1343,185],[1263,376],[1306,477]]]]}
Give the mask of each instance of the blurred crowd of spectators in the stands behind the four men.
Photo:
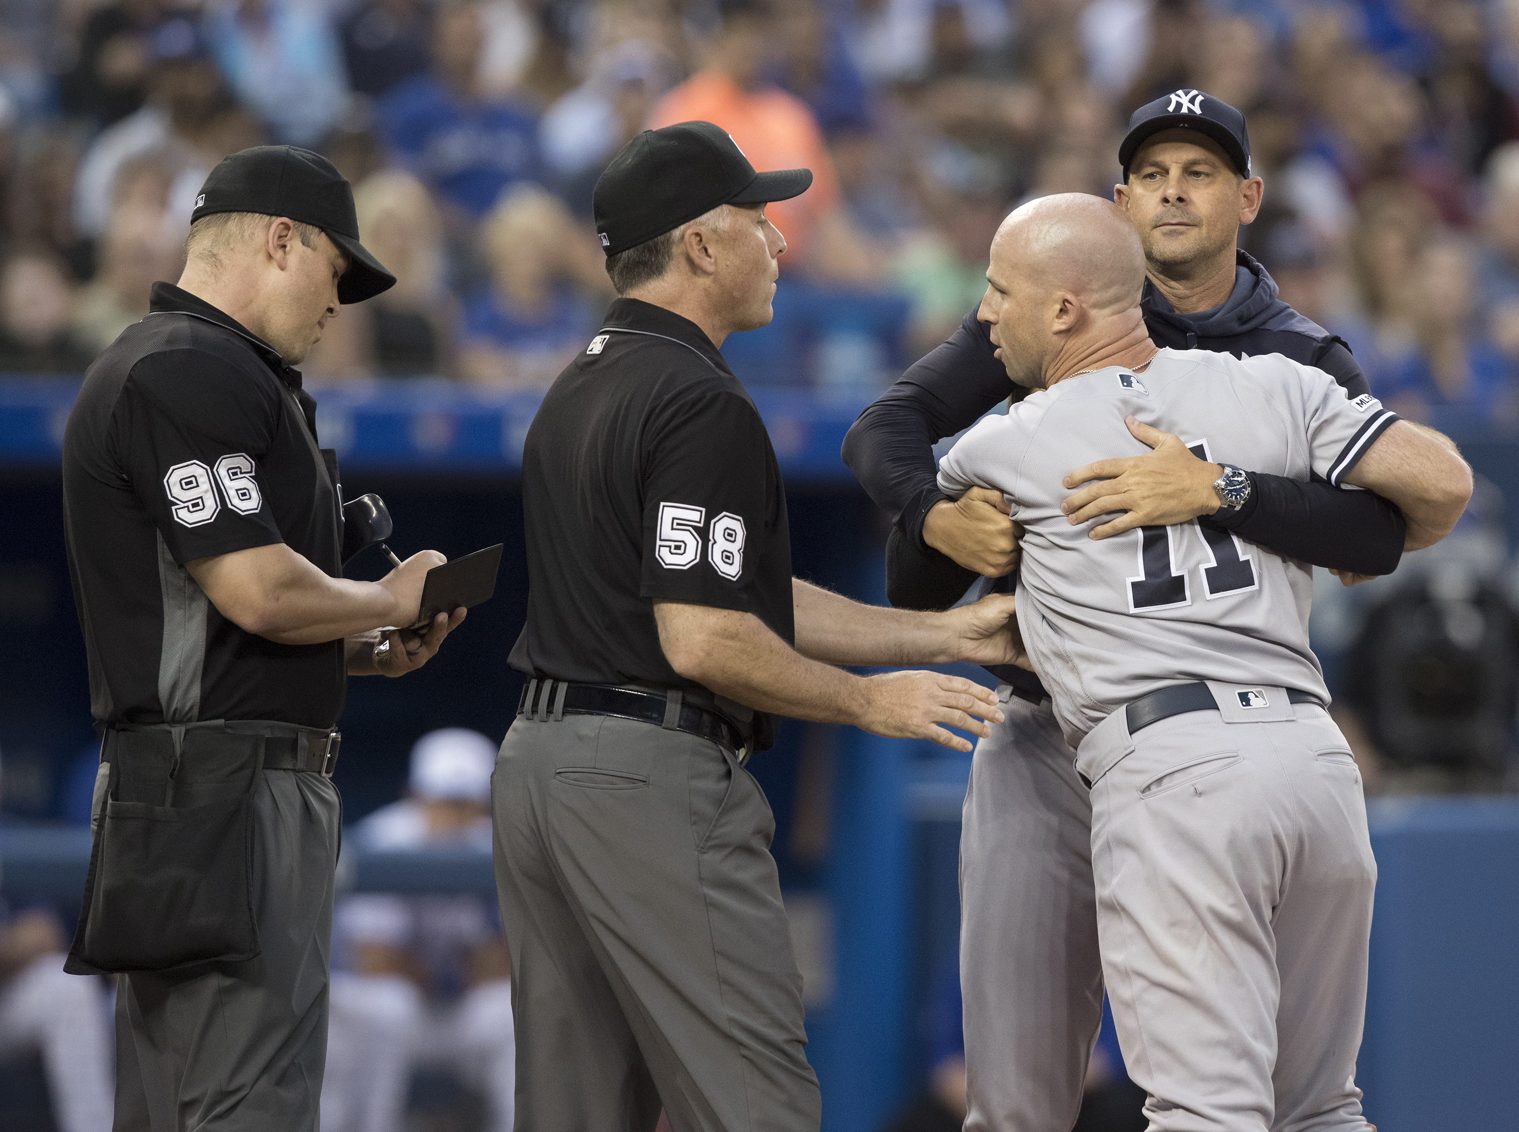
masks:
{"type": "MultiPolygon", "coordinates": [[[[611,297],[591,187],[636,130],[725,126],[772,208],[778,325],[740,373],[867,395],[975,307],[1019,200],[1109,196],[1129,112],[1246,111],[1244,246],[1401,411],[1519,426],[1516,0],[14,0],[0,370],[73,372],[176,278],[201,179],[295,143],[399,284],[313,376],[545,385],[611,297]]],[[[749,335],[753,337],[753,335],[749,335]]]]}

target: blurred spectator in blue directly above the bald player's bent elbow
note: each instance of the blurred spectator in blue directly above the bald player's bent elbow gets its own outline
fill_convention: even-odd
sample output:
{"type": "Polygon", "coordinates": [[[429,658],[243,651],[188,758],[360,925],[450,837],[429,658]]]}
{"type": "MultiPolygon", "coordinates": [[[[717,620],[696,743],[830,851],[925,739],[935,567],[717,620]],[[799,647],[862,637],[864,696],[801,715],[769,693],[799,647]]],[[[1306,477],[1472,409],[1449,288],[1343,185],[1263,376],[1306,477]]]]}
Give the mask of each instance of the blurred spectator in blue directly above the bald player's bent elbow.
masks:
{"type": "Polygon", "coordinates": [[[1401,416],[1445,428],[1511,419],[1511,363],[1476,323],[1472,249],[1438,240],[1419,255],[1414,278],[1417,346],[1373,391],[1401,416]]]}

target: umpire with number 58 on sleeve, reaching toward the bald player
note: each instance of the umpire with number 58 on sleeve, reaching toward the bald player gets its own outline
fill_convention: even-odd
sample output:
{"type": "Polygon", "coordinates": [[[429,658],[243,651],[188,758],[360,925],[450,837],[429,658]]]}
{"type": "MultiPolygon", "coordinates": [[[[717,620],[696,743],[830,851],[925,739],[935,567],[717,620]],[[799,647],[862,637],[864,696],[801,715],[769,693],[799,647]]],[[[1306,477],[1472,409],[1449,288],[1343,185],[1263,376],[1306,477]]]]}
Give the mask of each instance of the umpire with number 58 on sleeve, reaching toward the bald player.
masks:
{"type": "Polygon", "coordinates": [[[595,187],[621,296],[523,451],[532,678],[492,780],[512,951],[518,1132],[808,1132],[802,980],[743,763],[763,713],[969,744],[1000,721],[958,677],[838,665],[1018,657],[1013,599],[860,605],[791,577],[785,493],[718,354],[770,320],[785,240],[723,130],[633,138],[595,187]]]}

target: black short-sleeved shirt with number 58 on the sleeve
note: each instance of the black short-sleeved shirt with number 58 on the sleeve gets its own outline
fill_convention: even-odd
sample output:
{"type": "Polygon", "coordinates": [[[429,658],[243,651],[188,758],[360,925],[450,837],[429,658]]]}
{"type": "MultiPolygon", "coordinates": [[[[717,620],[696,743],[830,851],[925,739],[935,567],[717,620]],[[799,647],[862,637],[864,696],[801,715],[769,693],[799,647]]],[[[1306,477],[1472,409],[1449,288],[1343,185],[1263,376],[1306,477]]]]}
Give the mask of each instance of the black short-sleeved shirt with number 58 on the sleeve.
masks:
{"type": "Polygon", "coordinates": [[[523,449],[527,624],[513,668],[696,689],[655,599],[753,613],[788,645],[791,540],[764,422],[702,329],[618,299],[523,449]]]}

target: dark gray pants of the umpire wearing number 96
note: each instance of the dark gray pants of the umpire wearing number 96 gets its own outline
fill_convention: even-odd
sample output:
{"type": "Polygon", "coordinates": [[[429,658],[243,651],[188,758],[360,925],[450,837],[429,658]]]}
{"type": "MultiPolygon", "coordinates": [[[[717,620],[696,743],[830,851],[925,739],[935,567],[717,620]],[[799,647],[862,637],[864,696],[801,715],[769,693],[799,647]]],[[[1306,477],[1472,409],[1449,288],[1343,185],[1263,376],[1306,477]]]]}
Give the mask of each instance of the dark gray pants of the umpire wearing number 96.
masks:
{"type": "Polygon", "coordinates": [[[264,771],[254,795],[261,954],[118,980],[115,1132],[316,1132],[340,812],[322,775],[264,771]]]}

